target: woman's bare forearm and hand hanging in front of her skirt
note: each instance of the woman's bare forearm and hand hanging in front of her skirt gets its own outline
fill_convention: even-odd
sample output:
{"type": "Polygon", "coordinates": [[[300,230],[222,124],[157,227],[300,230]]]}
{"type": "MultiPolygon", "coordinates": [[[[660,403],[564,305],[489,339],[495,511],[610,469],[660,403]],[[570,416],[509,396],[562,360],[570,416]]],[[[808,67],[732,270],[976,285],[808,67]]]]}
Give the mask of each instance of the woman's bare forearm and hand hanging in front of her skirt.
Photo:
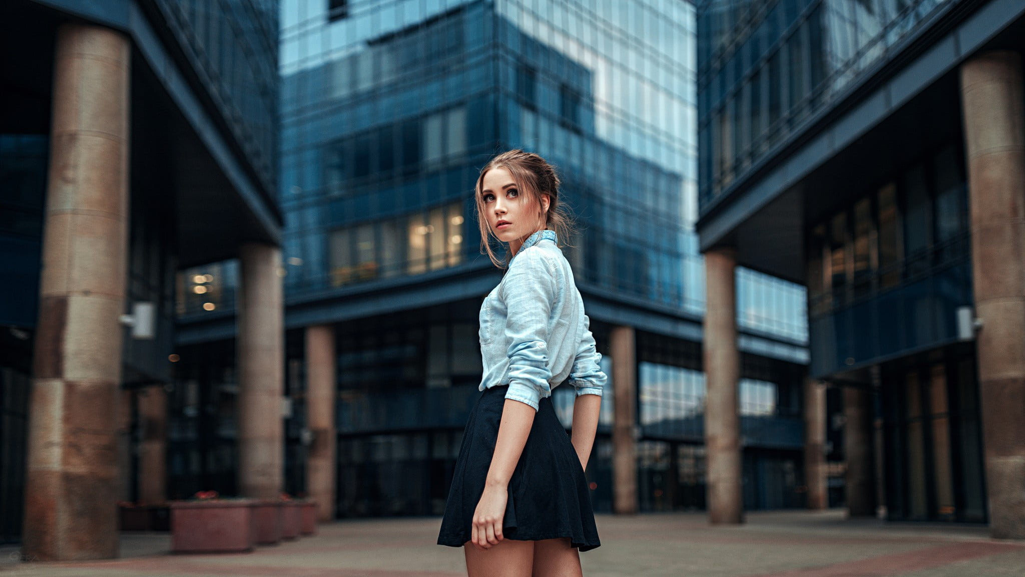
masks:
{"type": "Polygon", "coordinates": [[[508,485],[512,471],[520,462],[520,455],[527,445],[530,428],[537,411],[519,400],[506,398],[502,406],[502,422],[498,425],[495,453],[491,457],[484,493],[474,511],[470,541],[479,549],[488,549],[501,542],[505,503],[508,502],[508,485]]]}

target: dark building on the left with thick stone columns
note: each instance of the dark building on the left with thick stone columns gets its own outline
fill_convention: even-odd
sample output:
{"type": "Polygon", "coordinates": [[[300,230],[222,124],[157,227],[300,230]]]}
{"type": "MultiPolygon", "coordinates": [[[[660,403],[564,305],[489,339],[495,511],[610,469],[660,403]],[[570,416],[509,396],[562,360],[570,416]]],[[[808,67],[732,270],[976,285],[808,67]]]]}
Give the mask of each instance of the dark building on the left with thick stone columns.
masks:
{"type": "MultiPolygon", "coordinates": [[[[117,502],[166,499],[180,268],[240,258],[246,314],[280,311],[278,16],[0,6],[0,540],[27,556],[116,556],[117,502]]],[[[276,339],[248,322],[243,364],[276,339]]]]}

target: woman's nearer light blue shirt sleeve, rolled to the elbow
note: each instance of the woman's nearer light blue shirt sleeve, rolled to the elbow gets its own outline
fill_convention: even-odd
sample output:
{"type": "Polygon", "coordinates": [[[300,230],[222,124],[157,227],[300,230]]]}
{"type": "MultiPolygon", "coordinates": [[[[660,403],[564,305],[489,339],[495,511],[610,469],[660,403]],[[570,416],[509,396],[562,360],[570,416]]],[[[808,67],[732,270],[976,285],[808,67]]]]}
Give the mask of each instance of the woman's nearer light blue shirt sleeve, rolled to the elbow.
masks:
{"type": "Polygon", "coordinates": [[[547,326],[556,299],[555,274],[540,251],[524,251],[514,259],[502,280],[502,294],[509,341],[505,398],[537,411],[540,399],[551,394],[547,326]]]}

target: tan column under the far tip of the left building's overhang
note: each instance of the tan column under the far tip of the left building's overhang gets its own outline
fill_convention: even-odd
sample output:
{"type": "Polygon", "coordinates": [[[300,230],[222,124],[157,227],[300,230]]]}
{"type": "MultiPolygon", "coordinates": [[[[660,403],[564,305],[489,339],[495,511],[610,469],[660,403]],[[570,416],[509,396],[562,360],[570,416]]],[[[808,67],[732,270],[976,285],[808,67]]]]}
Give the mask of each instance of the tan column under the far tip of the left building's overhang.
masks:
{"type": "Polygon", "coordinates": [[[239,286],[239,490],[273,499],[284,487],[284,303],[281,248],[242,245],[239,286]]]}

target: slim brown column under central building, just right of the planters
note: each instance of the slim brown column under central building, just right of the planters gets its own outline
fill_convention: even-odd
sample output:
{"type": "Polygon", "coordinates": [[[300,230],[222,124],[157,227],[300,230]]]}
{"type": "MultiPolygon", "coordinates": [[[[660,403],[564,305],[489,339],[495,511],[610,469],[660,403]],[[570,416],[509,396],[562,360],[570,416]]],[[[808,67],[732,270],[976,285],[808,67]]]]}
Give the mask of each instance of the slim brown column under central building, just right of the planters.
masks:
{"type": "Polygon", "coordinates": [[[334,520],[335,507],[335,349],[334,326],[306,328],[306,417],[314,441],[306,461],[310,497],[317,520],[334,520]]]}

